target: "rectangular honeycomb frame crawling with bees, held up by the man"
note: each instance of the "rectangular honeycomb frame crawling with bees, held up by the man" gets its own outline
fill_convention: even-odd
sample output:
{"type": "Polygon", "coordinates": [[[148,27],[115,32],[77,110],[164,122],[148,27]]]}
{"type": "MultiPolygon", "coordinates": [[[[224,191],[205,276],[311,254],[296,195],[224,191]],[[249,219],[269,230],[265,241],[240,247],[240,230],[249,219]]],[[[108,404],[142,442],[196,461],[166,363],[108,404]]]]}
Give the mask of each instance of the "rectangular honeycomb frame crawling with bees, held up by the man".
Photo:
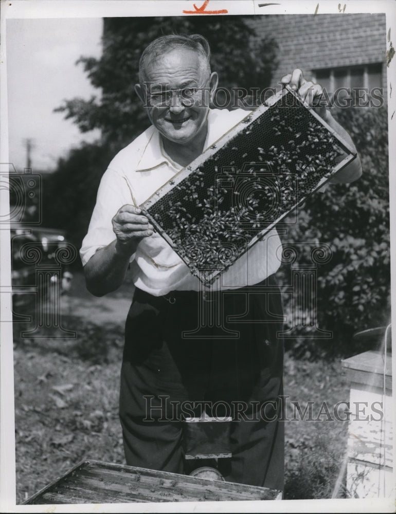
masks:
{"type": "Polygon", "coordinates": [[[356,152],[290,87],[271,97],[140,207],[205,286],[356,152]]]}

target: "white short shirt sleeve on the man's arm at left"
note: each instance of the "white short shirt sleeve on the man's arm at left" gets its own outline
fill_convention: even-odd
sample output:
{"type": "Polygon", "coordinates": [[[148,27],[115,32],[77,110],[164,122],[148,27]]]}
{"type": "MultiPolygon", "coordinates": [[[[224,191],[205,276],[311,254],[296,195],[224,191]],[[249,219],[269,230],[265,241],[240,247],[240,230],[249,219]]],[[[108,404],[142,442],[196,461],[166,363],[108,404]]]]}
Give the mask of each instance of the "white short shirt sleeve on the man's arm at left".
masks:
{"type": "Polygon", "coordinates": [[[100,181],[96,205],[80,249],[83,266],[97,250],[115,240],[112,219],[127,204],[133,205],[127,182],[116,171],[107,169],[100,181]]]}

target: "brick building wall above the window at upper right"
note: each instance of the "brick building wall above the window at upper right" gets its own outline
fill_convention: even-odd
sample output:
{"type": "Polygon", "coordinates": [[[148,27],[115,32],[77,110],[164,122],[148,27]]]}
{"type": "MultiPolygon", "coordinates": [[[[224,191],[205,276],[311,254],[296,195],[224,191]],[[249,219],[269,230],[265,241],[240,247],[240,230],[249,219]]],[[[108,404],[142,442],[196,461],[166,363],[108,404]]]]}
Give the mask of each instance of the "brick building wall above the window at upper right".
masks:
{"type": "Polygon", "coordinates": [[[258,37],[273,36],[279,45],[272,87],[295,68],[311,77],[317,69],[382,63],[386,98],[385,14],[259,15],[250,23],[258,37]]]}

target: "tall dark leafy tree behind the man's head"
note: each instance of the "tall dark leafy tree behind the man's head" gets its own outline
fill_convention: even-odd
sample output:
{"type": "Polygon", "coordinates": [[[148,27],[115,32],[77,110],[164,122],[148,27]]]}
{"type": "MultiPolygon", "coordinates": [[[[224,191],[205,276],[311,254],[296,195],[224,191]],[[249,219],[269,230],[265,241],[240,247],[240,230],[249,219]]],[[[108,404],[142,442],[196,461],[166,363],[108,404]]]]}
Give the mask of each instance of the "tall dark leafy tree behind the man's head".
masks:
{"type": "Polygon", "coordinates": [[[99,59],[81,57],[89,80],[100,88],[93,96],[67,100],[57,108],[73,119],[81,132],[99,128],[102,144],[114,150],[125,146],[149,121],[135,94],[140,54],[162,34],[200,33],[212,52],[211,67],[218,71],[222,87],[268,87],[276,69],[277,44],[258,39],[248,24],[252,16],[179,16],[107,18],[103,28],[103,53],[99,59]]]}

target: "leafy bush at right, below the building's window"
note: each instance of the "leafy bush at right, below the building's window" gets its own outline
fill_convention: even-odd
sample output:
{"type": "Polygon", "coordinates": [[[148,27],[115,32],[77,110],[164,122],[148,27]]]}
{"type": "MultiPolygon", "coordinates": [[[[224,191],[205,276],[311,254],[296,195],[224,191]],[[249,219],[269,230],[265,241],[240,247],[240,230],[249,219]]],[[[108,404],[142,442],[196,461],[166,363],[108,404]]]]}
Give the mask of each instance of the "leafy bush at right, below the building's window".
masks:
{"type": "MultiPolygon", "coordinates": [[[[354,332],[390,319],[387,109],[339,109],[334,117],[350,133],[363,175],[352,184],[329,185],[324,193],[312,195],[284,238],[292,245],[320,242],[331,248],[329,262],[318,266],[316,300],[317,324],[333,337],[310,339],[304,337],[304,328],[292,343],[297,355],[307,350],[311,355],[354,352],[354,332]]],[[[309,252],[301,253],[298,265],[310,264],[309,252]]],[[[284,276],[289,271],[283,270],[284,276]]]]}

